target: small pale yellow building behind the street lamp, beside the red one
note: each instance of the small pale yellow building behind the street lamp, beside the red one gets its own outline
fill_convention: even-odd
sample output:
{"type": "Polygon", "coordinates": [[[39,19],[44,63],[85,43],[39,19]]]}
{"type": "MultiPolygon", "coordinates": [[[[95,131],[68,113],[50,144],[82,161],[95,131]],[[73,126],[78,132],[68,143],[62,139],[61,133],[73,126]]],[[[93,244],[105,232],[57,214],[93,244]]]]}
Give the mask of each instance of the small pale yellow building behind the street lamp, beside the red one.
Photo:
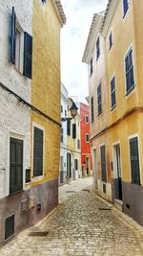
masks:
{"type": "MultiPolygon", "coordinates": [[[[71,116],[70,108],[72,99],[68,99],[68,116],[71,116]]],[[[67,175],[70,179],[81,176],[81,147],[80,147],[80,115],[67,121],[67,175]]]]}

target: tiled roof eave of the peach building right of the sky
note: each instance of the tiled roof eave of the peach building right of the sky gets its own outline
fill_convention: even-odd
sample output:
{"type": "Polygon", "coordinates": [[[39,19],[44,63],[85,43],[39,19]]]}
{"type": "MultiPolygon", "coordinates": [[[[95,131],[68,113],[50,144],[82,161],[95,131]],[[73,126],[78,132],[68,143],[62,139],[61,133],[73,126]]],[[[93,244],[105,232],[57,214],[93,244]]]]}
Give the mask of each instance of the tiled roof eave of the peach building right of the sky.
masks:
{"type": "Polygon", "coordinates": [[[83,62],[86,62],[86,63],[89,62],[89,55],[91,55],[92,47],[94,46],[94,39],[95,39],[94,36],[95,36],[95,33],[96,33],[95,29],[96,29],[97,25],[100,24],[100,21],[102,21],[102,20],[103,20],[103,15],[102,14],[93,14],[92,25],[91,25],[91,28],[90,28],[90,33],[88,35],[84,55],[83,55],[83,58],[82,58],[83,62]]]}

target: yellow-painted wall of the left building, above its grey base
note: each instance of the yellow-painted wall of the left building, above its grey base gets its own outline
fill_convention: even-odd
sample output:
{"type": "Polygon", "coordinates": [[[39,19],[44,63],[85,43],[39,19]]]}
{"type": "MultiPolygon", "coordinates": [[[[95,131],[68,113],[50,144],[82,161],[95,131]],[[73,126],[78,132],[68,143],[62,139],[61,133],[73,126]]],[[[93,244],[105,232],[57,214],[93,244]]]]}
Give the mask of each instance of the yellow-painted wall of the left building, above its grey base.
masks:
{"type": "Polygon", "coordinates": [[[31,175],[33,174],[33,126],[44,129],[43,177],[33,177],[31,186],[58,178],[60,151],[60,29],[61,21],[53,1],[33,1],[33,58],[31,105],[50,116],[31,112],[31,175]]]}

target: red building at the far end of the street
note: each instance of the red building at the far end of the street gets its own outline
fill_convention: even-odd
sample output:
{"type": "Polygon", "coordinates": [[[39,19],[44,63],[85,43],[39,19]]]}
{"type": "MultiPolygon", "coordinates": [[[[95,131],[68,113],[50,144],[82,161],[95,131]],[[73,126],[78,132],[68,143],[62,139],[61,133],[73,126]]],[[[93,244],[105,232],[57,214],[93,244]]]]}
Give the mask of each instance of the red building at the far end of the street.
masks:
{"type": "Polygon", "coordinates": [[[89,105],[80,103],[81,167],[82,176],[92,175],[92,153],[90,146],[89,105]]]}

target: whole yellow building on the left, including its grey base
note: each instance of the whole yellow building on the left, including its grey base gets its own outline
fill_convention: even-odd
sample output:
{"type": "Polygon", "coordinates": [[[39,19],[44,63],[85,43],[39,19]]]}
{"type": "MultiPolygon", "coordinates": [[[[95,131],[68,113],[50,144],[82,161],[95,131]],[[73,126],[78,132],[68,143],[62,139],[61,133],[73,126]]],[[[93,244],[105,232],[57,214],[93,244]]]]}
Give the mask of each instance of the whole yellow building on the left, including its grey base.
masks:
{"type": "Polygon", "coordinates": [[[61,136],[60,1],[33,1],[31,105],[31,222],[58,203],[61,136]],[[37,214],[38,213],[38,214],[37,214]]]}

